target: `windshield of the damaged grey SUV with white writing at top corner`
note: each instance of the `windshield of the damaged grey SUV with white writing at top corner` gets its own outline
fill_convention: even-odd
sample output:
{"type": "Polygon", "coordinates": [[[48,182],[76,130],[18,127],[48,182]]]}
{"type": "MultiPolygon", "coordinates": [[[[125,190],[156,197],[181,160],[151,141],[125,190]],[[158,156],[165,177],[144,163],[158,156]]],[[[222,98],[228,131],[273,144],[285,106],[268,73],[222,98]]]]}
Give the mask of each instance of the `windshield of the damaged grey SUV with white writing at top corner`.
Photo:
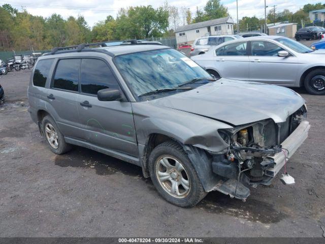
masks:
{"type": "Polygon", "coordinates": [[[114,63],[135,94],[175,88],[195,78],[211,79],[199,65],[175,49],[159,49],[116,56],[114,63]]]}

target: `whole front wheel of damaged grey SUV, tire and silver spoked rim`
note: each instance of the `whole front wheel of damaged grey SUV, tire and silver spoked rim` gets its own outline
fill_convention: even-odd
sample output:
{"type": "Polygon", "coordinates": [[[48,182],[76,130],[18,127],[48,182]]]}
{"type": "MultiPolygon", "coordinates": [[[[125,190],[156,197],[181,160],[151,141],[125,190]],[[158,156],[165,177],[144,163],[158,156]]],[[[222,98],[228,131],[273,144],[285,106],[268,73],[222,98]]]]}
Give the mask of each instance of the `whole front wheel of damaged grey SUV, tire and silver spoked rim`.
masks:
{"type": "Polygon", "coordinates": [[[194,206],[207,194],[183,147],[174,141],[152,150],[149,172],[158,193],[177,206],[194,206]]]}

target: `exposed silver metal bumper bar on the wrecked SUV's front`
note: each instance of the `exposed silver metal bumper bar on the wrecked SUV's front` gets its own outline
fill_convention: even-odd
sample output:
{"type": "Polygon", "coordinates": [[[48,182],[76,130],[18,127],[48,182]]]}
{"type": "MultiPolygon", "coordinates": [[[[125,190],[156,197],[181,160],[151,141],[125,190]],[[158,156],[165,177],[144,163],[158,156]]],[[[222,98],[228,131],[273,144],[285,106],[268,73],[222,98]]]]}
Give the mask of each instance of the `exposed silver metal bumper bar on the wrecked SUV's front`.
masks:
{"type": "Polygon", "coordinates": [[[309,122],[307,120],[303,120],[297,129],[282,142],[282,148],[286,153],[281,151],[280,153],[275,154],[273,157],[268,157],[274,161],[274,167],[267,169],[265,173],[266,175],[274,177],[281,170],[285,164],[285,156],[287,159],[293,156],[296,150],[306,140],[309,129],[309,122]]]}

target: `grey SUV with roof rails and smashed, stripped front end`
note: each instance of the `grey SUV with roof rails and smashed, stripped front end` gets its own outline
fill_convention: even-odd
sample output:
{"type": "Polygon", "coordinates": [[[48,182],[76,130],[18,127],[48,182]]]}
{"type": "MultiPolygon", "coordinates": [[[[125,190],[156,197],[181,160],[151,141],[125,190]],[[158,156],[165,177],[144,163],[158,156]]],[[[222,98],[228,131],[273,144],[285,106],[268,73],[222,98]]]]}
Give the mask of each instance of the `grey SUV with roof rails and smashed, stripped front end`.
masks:
{"type": "Polygon", "coordinates": [[[307,137],[305,100],[217,80],[175,49],[144,44],[54,48],[37,60],[28,111],[53,153],[79,145],[136,164],[182,207],[271,184],[307,137]]]}

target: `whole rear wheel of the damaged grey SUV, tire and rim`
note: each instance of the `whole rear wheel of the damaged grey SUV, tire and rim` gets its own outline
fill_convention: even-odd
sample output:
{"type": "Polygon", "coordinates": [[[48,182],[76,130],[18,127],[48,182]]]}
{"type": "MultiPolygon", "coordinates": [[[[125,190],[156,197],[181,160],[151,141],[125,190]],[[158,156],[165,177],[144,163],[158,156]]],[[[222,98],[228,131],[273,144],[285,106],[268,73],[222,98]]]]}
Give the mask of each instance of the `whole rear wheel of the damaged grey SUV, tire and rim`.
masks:
{"type": "Polygon", "coordinates": [[[64,137],[52,117],[45,116],[42,120],[42,126],[43,134],[53,153],[64,154],[71,149],[71,146],[64,141],[64,137]]]}

